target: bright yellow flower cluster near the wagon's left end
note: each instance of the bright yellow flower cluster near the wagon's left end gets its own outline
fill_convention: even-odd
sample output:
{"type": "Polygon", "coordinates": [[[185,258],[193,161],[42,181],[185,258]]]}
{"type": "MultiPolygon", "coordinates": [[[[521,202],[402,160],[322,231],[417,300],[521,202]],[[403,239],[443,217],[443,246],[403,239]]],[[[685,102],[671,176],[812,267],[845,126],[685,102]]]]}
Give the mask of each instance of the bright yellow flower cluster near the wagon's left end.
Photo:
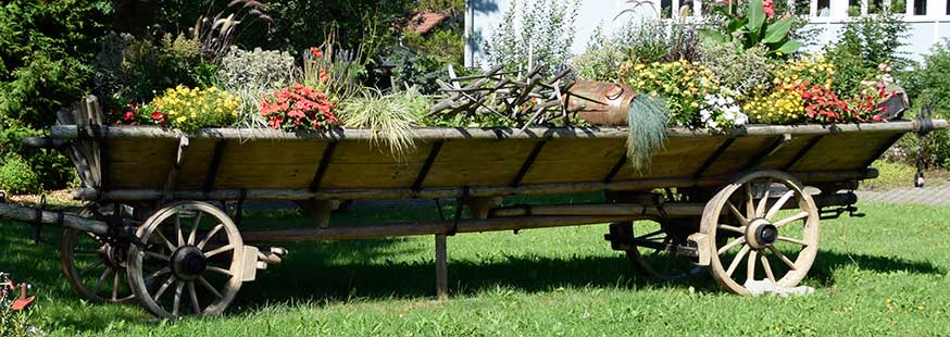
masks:
{"type": "Polygon", "coordinates": [[[183,130],[226,126],[234,123],[240,107],[232,93],[215,87],[207,89],[177,86],[155,98],[150,114],[157,124],[183,130]]]}

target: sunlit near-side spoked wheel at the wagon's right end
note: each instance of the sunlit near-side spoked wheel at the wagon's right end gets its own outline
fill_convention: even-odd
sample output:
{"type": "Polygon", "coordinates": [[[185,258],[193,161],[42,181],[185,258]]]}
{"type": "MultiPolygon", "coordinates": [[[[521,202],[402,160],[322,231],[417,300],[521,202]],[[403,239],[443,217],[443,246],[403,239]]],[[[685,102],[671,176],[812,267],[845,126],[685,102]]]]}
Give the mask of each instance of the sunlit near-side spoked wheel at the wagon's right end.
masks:
{"type": "Polygon", "coordinates": [[[814,200],[795,177],[777,171],[742,176],[703,210],[710,273],[739,295],[750,295],[745,285],[753,279],[795,287],[815,260],[818,222],[814,200]]]}

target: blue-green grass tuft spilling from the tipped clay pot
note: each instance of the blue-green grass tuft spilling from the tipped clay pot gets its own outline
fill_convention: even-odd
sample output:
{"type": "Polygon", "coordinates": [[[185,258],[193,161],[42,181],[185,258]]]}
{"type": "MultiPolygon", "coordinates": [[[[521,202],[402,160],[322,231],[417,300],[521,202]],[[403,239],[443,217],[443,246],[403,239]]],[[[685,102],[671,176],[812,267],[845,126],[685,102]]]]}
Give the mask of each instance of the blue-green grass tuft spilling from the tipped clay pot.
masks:
{"type": "Polygon", "coordinates": [[[627,115],[627,159],[637,171],[649,170],[650,158],[666,145],[670,112],[663,99],[639,95],[634,98],[627,115]]]}

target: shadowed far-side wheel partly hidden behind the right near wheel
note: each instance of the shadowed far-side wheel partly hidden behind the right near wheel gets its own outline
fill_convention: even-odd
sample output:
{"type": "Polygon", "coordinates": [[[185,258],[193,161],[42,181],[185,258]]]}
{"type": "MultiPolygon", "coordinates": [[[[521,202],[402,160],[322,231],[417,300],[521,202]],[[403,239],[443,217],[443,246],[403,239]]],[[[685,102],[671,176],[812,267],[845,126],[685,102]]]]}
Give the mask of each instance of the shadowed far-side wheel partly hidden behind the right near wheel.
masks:
{"type": "Polygon", "coordinates": [[[662,280],[686,279],[705,272],[696,258],[683,251],[687,237],[698,230],[696,220],[614,223],[611,235],[627,244],[627,259],[640,274],[662,280]]]}

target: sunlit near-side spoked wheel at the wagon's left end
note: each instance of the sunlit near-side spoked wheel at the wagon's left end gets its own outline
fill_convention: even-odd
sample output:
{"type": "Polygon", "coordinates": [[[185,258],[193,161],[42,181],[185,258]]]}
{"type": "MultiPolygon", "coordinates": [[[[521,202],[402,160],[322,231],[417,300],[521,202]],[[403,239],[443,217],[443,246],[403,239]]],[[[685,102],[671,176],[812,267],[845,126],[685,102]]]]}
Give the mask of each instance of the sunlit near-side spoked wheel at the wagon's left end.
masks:
{"type": "Polygon", "coordinates": [[[220,209],[171,204],[146,220],[137,237],[143,244],[129,248],[129,284],[157,316],[217,314],[240,289],[243,240],[220,209]]]}

